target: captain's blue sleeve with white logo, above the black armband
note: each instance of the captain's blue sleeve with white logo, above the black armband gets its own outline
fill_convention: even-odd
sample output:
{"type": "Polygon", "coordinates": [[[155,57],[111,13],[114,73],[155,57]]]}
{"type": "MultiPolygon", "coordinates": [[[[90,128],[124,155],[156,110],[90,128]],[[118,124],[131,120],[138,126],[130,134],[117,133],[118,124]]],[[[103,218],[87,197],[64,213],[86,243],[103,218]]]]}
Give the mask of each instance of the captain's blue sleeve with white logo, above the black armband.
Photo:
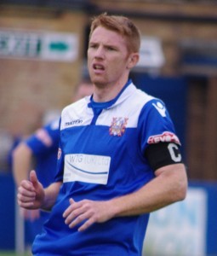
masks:
{"type": "Polygon", "coordinates": [[[140,113],[138,128],[140,129],[140,145],[143,154],[151,144],[170,142],[180,144],[168,110],[159,99],[153,99],[146,103],[140,113]]]}

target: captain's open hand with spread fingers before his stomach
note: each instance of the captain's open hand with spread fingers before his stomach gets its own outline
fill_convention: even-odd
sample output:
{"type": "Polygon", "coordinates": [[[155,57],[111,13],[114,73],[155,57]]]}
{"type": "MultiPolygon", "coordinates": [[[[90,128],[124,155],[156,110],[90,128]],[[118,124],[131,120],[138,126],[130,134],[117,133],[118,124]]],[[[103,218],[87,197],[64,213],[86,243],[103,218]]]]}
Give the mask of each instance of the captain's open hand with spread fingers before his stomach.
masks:
{"type": "Polygon", "coordinates": [[[63,218],[66,218],[65,223],[70,228],[84,221],[78,229],[78,231],[83,231],[94,223],[103,223],[112,218],[113,213],[109,204],[109,201],[83,200],[76,202],[70,199],[70,206],[63,213],[63,218]]]}

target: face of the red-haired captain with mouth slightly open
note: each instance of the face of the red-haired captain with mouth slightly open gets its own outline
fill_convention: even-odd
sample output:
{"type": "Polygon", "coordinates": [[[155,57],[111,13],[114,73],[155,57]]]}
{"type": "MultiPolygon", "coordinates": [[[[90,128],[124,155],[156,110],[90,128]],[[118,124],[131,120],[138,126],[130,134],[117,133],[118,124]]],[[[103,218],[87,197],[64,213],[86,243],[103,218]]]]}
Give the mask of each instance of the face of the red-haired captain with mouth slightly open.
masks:
{"type": "Polygon", "coordinates": [[[90,78],[96,86],[122,83],[128,77],[125,39],[117,32],[98,26],[89,40],[88,67],[90,78]]]}

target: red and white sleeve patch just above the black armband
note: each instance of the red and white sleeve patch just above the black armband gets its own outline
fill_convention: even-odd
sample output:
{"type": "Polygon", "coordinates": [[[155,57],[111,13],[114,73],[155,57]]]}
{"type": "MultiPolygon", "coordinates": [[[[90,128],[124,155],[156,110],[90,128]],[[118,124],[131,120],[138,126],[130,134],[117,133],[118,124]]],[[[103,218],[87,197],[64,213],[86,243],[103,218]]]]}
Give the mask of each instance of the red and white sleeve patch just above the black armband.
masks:
{"type": "Polygon", "coordinates": [[[173,132],[164,131],[162,134],[157,134],[148,138],[148,144],[156,144],[156,143],[180,144],[180,140],[173,132]]]}

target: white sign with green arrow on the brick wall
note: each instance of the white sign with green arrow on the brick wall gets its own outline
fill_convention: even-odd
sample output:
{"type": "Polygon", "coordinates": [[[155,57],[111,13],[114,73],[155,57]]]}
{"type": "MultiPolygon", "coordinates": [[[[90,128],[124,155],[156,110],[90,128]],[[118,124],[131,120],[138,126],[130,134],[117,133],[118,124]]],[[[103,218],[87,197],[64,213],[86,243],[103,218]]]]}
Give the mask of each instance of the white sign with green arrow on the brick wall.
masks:
{"type": "Polygon", "coordinates": [[[0,30],[0,58],[37,61],[76,61],[75,33],[0,30]]]}

